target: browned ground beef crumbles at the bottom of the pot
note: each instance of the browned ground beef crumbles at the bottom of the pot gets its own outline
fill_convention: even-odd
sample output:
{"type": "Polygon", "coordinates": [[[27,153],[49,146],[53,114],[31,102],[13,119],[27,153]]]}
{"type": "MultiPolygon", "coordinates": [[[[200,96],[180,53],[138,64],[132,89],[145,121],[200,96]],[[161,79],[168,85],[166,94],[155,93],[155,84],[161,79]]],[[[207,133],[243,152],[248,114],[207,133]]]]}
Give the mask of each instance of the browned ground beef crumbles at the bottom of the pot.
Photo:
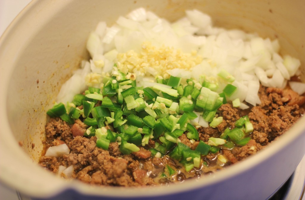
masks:
{"type": "MultiPolygon", "coordinates": [[[[40,165],[57,173],[59,165],[74,165],[72,178],[85,183],[112,186],[143,186],[181,182],[187,178],[199,177],[222,169],[224,166],[236,163],[249,155],[255,154],[267,144],[282,135],[304,113],[304,96],[299,96],[291,89],[276,89],[260,87],[259,96],[261,104],[248,110],[240,110],[231,104],[223,104],[219,108],[218,116],[223,116],[223,122],[216,128],[198,129],[199,139],[207,142],[209,137],[219,137],[227,128],[234,128],[235,121],[240,116],[248,115],[253,124],[254,131],[250,134],[251,140],[243,147],[226,149],[224,146],[215,154],[202,156],[206,165],[201,169],[194,168],[185,172],[183,166],[168,156],[152,158],[150,147],[155,146],[154,140],[141,147],[140,151],[130,155],[123,155],[117,142],[110,143],[109,150],[96,147],[96,137],[83,136],[87,128],[81,120],[74,125],[68,125],[60,118],[51,118],[45,127],[45,149],[50,146],[66,143],[70,154],[62,158],[42,156],[40,165]],[[226,164],[217,161],[219,154],[228,159],[226,164]],[[166,165],[177,173],[170,178],[160,177],[166,165]]],[[[106,127],[111,128],[111,127],[106,127]]],[[[181,143],[195,149],[198,141],[191,143],[185,134],[179,137],[181,143]]]]}

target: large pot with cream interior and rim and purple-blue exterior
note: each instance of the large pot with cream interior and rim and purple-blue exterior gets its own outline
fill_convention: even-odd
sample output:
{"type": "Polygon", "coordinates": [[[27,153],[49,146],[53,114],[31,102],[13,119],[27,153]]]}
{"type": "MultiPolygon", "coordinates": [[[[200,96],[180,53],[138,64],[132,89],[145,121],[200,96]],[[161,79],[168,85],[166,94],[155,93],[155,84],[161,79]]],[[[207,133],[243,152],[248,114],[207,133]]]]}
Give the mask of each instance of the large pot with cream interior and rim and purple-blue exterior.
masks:
{"type": "Polygon", "coordinates": [[[34,0],[0,39],[0,180],[33,199],[267,199],[305,152],[305,118],[257,155],[197,180],[169,186],[94,187],[66,181],[37,165],[46,111],[60,86],[88,58],[99,21],[144,7],[170,21],[199,9],[214,24],[278,38],[282,54],[301,60],[305,80],[303,0],[34,0]]]}

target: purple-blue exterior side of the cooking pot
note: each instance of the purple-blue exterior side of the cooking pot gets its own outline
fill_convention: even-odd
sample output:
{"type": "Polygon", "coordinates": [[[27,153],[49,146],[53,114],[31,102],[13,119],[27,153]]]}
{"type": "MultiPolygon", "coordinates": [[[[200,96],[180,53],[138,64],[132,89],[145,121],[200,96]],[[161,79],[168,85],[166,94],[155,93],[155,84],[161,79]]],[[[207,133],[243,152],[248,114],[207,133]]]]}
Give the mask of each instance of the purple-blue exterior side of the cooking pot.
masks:
{"type": "MultiPolygon", "coordinates": [[[[304,143],[305,134],[302,134],[301,137],[292,141],[289,148],[281,149],[271,158],[254,165],[251,169],[219,183],[186,192],[153,197],[116,198],[82,195],[68,189],[59,195],[44,200],[186,200],[189,198],[192,200],[264,200],[270,198],[294,172],[297,167],[296,163],[299,163],[304,156],[304,143]]],[[[150,187],[149,190],[154,190],[154,188],[150,187]]],[[[113,195],[115,196],[115,194],[113,195]]],[[[42,200],[41,198],[34,199],[42,200]]]]}

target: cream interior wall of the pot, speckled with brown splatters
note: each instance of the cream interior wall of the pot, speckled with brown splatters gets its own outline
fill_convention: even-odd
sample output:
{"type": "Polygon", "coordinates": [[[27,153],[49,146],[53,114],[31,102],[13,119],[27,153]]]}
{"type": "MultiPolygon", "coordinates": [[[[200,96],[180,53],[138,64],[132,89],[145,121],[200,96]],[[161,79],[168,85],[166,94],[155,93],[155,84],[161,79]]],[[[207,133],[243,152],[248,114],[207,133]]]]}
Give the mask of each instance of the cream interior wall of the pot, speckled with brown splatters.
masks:
{"type": "MultiPolygon", "coordinates": [[[[31,33],[26,45],[16,52],[18,59],[12,61],[14,71],[7,94],[7,110],[16,141],[23,143],[24,150],[36,162],[43,148],[45,112],[55,103],[63,82],[82,59],[88,58],[85,45],[89,32],[99,21],[113,24],[119,15],[138,7],[152,10],[170,21],[184,16],[185,9],[196,8],[210,14],[217,26],[278,38],[282,54],[299,58],[302,74],[305,74],[305,15],[300,14],[305,10],[305,4],[301,0],[56,0],[32,3],[50,8],[32,14],[32,19],[41,19],[42,26],[31,33]],[[56,4],[65,6],[52,9],[56,4]]],[[[24,31],[31,31],[30,27],[35,25],[33,20],[24,31]]]]}

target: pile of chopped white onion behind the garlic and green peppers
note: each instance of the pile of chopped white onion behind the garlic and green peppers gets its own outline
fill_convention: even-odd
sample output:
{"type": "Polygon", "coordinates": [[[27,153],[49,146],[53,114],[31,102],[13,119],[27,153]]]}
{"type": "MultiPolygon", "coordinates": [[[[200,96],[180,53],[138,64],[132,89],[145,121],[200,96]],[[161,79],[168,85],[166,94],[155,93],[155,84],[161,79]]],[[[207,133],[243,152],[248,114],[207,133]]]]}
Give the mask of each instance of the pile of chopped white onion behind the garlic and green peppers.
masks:
{"type": "MultiPolygon", "coordinates": [[[[144,42],[156,48],[165,46],[201,56],[202,62],[191,69],[182,66],[166,72],[181,78],[199,79],[205,76],[210,82],[218,83],[216,92],[221,92],[226,85],[217,76],[224,69],[235,77],[232,85],[237,87],[229,100],[239,98],[241,102],[252,105],[260,104],[257,95],[260,83],[267,87],[284,88],[290,77],[300,74],[299,60],[289,55],[279,55],[278,40],[260,38],[238,29],[213,27],[210,16],[198,10],[187,10],[185,13],[184,18],[169,23],[139,8],[125,17],[120,16],[110,27],[100,22],[87,42],[92,59],[83,61],[81,69],[75,71],[61,88],[57,101],[71,101],[75,94],[83,92],[88,85],[102,87],[102,77],[107,73],[111,75],[113,65],[118,62],[117,55],[129,50],[140,53],[144,42]],[[90,79],[86,82],[88,74],[90,79]]],[[[154,66],[149,66],[149,69],[153,71],[154,66]]],[[[144,76],[134,71],[138,73],[139,85],[147,80],[153,82],[155,74],[150,71],[144,76]]],[[[299,94],[305,91],[303,83],[289,84],[299,94]]],[[[241,104],[241,108],[247,108],[246,104],[241,104]]]]}

